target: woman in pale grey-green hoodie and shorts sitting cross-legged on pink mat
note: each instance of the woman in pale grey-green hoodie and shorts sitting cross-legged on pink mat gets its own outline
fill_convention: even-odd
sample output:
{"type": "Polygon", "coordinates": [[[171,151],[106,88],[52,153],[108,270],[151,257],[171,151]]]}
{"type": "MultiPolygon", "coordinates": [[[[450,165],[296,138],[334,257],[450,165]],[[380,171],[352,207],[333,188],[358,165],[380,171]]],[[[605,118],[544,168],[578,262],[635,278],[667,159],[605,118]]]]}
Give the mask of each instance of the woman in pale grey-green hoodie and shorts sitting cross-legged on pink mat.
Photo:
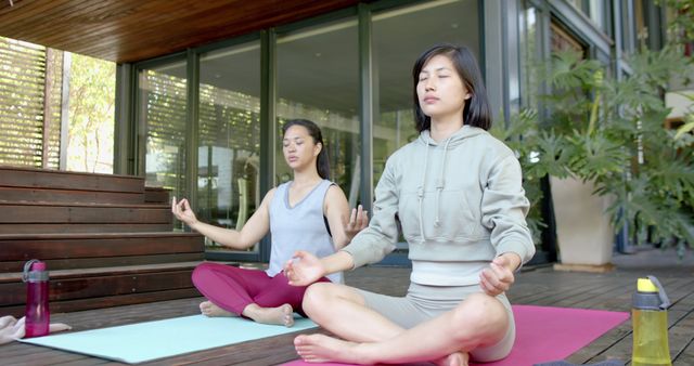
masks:
{"type": "Polygon", "coordinates": [[[414,64],[420,138],[393,154],[376,186],[371,223],[335,254],[298,252],[293,285],[380,261],[398,239],[409,244],[403,298],[338,284],[313,284],[304,298],[311,319],[340,339],[298,336],[307,362],[393,364],[505,357],[515,325],[504,292],[535,246],[529,202],[514,153],[487,130],[491,113],[481,75],[463,47],[438,44],[414,64]]]}

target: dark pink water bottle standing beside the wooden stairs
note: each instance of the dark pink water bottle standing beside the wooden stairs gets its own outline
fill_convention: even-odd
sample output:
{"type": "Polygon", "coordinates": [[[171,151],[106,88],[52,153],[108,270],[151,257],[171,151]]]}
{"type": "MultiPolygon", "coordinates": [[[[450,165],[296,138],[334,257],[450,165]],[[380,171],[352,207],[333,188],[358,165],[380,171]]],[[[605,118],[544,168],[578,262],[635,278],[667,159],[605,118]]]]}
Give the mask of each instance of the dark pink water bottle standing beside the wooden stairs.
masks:
{"type": "Polygon", "coordinates": [[[51,313],[48,310],[48,271],[46,263],[33,259],[24,264],[26,283],[25,338],[41,337],[49,332],[51,313]]]}

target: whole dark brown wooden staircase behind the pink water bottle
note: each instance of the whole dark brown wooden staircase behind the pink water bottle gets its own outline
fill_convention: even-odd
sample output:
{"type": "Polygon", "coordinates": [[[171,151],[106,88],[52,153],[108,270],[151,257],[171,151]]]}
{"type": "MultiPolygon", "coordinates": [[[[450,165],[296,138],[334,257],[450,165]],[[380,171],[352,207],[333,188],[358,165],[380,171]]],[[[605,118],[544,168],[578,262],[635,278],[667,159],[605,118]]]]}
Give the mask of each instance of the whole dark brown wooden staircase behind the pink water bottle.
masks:
{"type": "Polygon", "coordinates": [[[204,238],[172,232],[168,196],[138,177],[0,167],[0,315],[23,315],[30,259],[53,313],[200,296],[204,238]]]}

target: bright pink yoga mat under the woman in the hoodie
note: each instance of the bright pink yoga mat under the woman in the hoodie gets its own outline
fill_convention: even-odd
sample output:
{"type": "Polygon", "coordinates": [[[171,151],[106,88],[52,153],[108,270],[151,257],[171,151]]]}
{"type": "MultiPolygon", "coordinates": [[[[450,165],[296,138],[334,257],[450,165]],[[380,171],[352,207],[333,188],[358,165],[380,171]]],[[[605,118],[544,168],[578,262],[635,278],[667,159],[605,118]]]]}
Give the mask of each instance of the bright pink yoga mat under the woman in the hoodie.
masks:
{"type": "MultiPolygon", "coordinates": [[[[513,305],[516,342],[511,354],[484,366],[531,366],[564,360],[629,318],[629,313],[569,308],[513,305]]],[[[284,366],[345,365],[309,364],[301,360],[284,366]]]]}

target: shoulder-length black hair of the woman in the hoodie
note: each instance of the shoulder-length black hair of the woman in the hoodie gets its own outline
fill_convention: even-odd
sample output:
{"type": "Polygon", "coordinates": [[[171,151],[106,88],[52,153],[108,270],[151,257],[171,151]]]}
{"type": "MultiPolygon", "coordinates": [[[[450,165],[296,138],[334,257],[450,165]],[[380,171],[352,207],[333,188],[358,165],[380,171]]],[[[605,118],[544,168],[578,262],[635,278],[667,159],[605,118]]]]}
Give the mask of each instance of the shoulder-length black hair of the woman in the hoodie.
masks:
{"type": "Polygon", "coordinates": [[[472,94],[470,100],[465,102],[463,123],[489,130],[491,128],[491,108],[489,107],[487,89],[483,82],[477,61],[466,47],[450,43],[439,43],[424,51],[412,68],[412,78],[414,81],[414,121],[416,130],[422,132],[432,127],[432,119],[425,115],[420,107],[416,86],[420,82],[420,73],[424,65],[437,55],[445,55],[453,63],[465,89],[472,94]]]}

